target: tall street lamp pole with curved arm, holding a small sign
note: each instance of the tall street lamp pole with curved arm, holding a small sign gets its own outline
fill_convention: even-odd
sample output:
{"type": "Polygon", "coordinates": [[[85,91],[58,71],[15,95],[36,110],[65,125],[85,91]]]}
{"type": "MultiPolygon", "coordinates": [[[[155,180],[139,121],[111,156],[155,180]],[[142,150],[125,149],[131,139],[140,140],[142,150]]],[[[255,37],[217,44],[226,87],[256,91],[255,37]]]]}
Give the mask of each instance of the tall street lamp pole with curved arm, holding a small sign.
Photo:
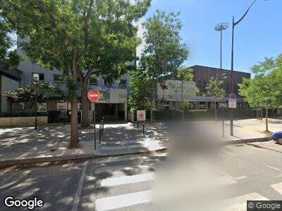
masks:
{"type": "MultiPolygon", "coordinates": [[[[252,7],[253,4],[255,4],[257,0],[252,1],[252,4],[247,8],[247,11],[245,11],[244,15],[238,20],[234,21],[234,16],[232,18],[232,50],[231,50],[231,93],[233,93],[233,66],[234,66],[234,28],[238,23],[240,23],[247,13],[250,11],[250,8],[252,7]]],[[[264,0],[264,1],[269,1],[269,0],[264,0]]],[[[230,135],[233,136],[233,108],[231,108],[231,115],[230,115],[230,135]]]]}

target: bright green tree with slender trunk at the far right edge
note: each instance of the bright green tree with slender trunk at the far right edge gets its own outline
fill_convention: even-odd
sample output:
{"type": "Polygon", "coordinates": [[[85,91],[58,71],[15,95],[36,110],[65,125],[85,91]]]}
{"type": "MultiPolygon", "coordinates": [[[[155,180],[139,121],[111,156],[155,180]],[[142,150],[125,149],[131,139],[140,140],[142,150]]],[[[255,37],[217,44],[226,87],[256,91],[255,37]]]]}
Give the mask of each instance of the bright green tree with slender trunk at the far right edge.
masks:
{"type": "Polygon", "coordinates": [[[243,79],[239,84],[239,94],[250,106],[265,108],[266,132],[269,132],[268,110],[282,106],[282,54],[275,59],[264,58],[252,66],[252,72],[255,77],[243,79]]]}

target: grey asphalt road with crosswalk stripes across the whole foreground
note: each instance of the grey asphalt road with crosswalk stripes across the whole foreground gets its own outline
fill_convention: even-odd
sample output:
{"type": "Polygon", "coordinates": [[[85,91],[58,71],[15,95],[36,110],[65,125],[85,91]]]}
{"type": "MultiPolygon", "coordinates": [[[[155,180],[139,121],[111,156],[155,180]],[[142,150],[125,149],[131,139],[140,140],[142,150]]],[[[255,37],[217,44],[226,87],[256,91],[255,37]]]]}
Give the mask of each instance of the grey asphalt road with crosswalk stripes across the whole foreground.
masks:
{"type": "Polygon", "coordinates": [[[5,167],[0,210],[24,210],[5,207],[6,196],[37,196],[44,210],[162,210],[164,205],[183,210],[209,191],[219,193],[222,210],[246,210],[246,200],[282,200],[282,146],[273,141],[224,146],[214,158],[205,158],[185,153],[171,158],[168,151],[5,167]],[[206,174],[207,160],[218,177],[206,174]]]}

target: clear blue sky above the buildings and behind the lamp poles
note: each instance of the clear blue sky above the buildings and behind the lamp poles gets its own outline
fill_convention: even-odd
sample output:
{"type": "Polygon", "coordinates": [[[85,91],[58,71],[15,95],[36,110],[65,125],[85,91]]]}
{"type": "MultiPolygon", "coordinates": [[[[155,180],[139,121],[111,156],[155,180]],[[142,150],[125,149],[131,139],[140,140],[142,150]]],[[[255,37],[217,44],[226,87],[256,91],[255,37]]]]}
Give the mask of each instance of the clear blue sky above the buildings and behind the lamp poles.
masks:
{"type": "MultiPolygon", "coordinates": [[[[143,21],[156,10],[180,11],[180,36],[188,44],[190,56],[184,65],[220,66],[220,32],[214,27],[226,22],[223,32],[222,68],[231,69],[232,17],[245,13],[252,0],[152,0],[143,21]]],[[[282,0],[257,0],[247,16],[235,26],[234,70],[250,72],[264,57],[282,53],[282,0]]],[[[142,30],[140,30],[142,34],[142,30]]],[[[140,51],[142,46],[138,49],[140,51]]]]}

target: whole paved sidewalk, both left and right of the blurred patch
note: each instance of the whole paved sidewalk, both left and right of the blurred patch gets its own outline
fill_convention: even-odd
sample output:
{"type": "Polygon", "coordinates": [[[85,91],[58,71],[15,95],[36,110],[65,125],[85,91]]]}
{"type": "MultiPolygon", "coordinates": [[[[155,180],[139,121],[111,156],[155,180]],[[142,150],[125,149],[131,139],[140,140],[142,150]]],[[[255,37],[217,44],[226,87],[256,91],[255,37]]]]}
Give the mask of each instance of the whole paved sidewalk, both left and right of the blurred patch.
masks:
{"type": "MultiPolygon", "coordinates": [[[[222,133],[221,122],[204,122],[211,124],[222,133]],[[211,124],[212,123],[212,124],[211,124]]],[[[252,141],[268,141],[271,134],[262,132],[265,123],[262,120],[235,120],[234,136],[229,136],[229,122],[225,122],[223,144],[245,143],[252,141]]],[[[0,165],[15,165],[31,162],[47,162],[54,160],[72,160],[94,158],[130,153],[145,153],[166,149],[168,143],[169,124],[154,123],[142,125],[137,130],[131,123],[114,122],[104,124],[102,143],[99,143],[99,125],[97,129],[97,149],[94,150],[94,128],[80,129],[80,146],[68,149],[70,125],[49,124],[39,127],[0,129],[0,165]]],[[[282,130],[282,120],[269,120],[272,132],[282,130]]]]}

